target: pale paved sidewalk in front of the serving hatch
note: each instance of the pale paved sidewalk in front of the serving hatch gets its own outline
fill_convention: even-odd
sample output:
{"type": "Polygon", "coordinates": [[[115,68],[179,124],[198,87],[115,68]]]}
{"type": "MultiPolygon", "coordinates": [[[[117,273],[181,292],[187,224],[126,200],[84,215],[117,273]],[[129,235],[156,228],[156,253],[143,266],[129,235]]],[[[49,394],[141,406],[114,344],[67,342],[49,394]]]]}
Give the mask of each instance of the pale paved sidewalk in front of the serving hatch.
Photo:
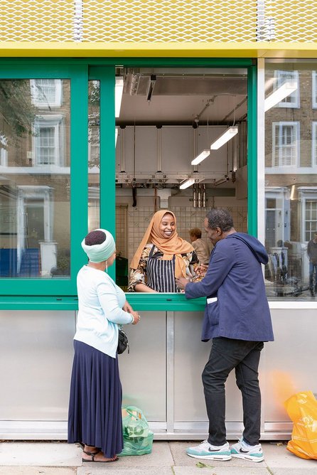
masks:
{"type": "Polygon", "coordinates": [[[317,460],[303,460],[285,442],[263,442],[265,461],[206,461],[186,455],[198,442],[154,442],[141,457],[120,457],[111,464],[82,463],[82,450],[65,442],[0,443],[0,475],[317,475],[317,460]]]}

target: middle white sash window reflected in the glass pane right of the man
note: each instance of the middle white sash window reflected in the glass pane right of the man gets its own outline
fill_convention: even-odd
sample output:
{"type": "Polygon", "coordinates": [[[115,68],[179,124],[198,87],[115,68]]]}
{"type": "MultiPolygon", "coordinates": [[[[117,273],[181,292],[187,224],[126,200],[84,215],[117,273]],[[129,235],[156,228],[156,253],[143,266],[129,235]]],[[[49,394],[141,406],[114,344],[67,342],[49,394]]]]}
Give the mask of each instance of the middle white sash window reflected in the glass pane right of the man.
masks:
{"type": "Polygon", "coordinates": [[[299,159],[299,122],[273,122],[272,166],[296,166],[299,159]]]}

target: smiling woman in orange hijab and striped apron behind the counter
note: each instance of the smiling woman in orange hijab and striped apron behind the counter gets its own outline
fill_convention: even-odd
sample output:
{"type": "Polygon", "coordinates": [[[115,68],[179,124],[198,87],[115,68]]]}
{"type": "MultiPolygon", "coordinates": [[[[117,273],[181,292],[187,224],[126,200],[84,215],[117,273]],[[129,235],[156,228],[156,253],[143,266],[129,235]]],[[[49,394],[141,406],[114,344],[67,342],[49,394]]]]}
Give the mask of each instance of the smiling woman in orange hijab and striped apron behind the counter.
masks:
{"type": "Polygon", "coordinates": [[[131,261],[129,292],[179,292],[176,277],[193,277],[195,262],[193,246],[176,233],[175,215],[157,211],[131,261]]]}

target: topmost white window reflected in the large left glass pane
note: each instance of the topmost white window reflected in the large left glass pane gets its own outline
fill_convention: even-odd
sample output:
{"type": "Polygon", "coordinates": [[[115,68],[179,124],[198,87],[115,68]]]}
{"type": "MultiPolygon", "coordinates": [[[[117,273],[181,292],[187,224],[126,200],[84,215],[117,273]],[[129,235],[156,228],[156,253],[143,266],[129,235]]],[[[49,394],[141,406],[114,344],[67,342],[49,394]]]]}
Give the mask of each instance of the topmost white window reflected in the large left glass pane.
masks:
{"type": "Polygon", "coordinates": [[[32,79],[32,102],[38,107],[62,105],[62,82],[60,79],[32,79]]]}

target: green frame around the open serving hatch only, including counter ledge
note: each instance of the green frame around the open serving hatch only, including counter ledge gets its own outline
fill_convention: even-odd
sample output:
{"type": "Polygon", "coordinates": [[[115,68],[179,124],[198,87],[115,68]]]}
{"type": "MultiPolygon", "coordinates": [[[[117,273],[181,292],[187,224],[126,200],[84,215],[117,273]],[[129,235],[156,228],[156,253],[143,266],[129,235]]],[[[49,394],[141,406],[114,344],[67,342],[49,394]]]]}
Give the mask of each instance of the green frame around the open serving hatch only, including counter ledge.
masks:
{"type": "MultiPolygon", "coordinates": [[[[100,80],[100,226],[115,232],[115,149],[107,144],[114,137],[114,65],[124,68],[247,68],[248,93],[248,232],[257,236],[257,67],[252,60],[207,58],[119,58],[112,65],[91,66],[89,79],[100,80]],[[103,196],[107,195],[107,199],[103,196]],[[107,204],[106,204],[107,203],[107,204]],[[109,213],[109,209],[113,213],[109,213]]],[[[114,278],[114,269],[109,269],[114,278]]],[[[139,310],[203,310],[205,299],[186,301],[184,294],[127,294],[139,310]]]]}

